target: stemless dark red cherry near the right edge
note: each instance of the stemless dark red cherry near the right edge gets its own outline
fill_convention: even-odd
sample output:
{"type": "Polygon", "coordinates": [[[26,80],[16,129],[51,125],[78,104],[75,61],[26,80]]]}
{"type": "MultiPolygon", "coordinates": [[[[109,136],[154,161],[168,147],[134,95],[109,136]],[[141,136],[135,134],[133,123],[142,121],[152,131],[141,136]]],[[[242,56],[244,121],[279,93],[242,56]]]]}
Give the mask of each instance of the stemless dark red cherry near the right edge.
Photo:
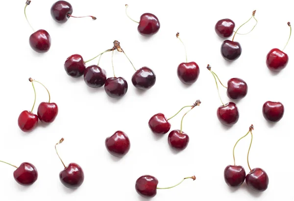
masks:
{"type": "Polygon", "coordinates": [[[262,107],[262,113],[268,121],[278,122],[284,115],[284,105],[280,102],[267,101],[262,107]]]}

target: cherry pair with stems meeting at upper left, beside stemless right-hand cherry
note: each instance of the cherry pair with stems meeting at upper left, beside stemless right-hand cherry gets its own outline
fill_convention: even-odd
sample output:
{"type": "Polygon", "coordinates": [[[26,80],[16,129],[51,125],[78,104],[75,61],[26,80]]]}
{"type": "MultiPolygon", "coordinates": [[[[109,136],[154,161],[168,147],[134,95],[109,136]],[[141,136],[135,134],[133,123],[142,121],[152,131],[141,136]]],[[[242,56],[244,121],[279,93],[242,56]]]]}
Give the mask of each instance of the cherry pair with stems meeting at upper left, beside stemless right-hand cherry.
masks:
{"type": "MultiPolygon", "coordinates": [[[[211,72],[211,74],[213,75],[216,81],[219,98],[221,100],[217,78],[220,83],[221,83],[221,80],[219,79],[218,75],[211,70],[210,65],[207,65],[207,69],[211,72]]],[[[221,85],[227,89],[227,96],[231,99],[235,99],[235,100],[242,99],[247,94],[248,86],[246,82],[240,78],[229,79],[227,82],[227,87],[224,86],[222,83],[221,85]]],[[[220,122],[226,126],[232,126],[235,123],[237,123],[239,120],[239,110],[237,108],[237,105],[233,102],[228,102],[224,104],[222,100],[221,100],[221,104],[222,106],[220,106],[217,110],[217,115],[220,122]]]]}

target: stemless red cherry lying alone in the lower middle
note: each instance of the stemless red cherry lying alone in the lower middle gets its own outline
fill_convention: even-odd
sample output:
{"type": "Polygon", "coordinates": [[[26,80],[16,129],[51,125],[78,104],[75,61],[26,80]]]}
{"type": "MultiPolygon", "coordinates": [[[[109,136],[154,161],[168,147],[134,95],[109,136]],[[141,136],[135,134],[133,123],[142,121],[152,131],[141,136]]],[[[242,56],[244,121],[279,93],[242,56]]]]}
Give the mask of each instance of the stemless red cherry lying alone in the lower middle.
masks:
{"type": "Polygon", "coordinates": [[[130,140],[122,131],[117,131],[105,140],[106,149],[113,156],[122,157],[130,150],[130,140]]]}

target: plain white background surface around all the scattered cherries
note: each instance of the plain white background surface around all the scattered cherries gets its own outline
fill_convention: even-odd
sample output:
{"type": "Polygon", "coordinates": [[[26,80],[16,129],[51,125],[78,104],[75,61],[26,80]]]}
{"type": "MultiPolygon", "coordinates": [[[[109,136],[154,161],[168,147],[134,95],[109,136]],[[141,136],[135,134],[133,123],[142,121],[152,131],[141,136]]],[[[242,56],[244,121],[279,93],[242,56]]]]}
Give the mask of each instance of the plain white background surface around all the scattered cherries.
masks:
{"type": "MultiPolygon", "coordinates": [[[[50,7],[54,0],[32,0],[27,16],[35,29],[46,29],[52,45],[49,52],[34,52],[28,38],[31,29],[25,21],[25,0],[1,2],[1,79],[0,79],[0,159],[20,165],[27,161],[39,172],[38,180],[30,187],[20,186],[13,179],[13,167],[0,164],[2,200],[103,200],[145,201],[135,191],[138,177],[150,174],[159,180],[158,187],[174,185],[184,177],[196,175],[195,181],[186,180],[170,190],[158,190],[153,201],[292,201],[293,196],[293,54],[292,39],[286,48],[290,60],[279,74],[266,67],[266,55],[271,48],[283,48],[288,36],[287,22],[294,21],[293,8],[286,0],[268,1],[138,1],[71,0],[73,15],[94,15],[91,19],[70,19],[65,24],[54,22],[50,7]],[[142,37],[137,24],[124,14],[129,4],[129,15],[135,20],[145,12],[155,14],[160,23],[159,32],[151,38],[142,37]],[[242,45],[241,57],[232,63],[221,57],[222,39],[214,30],[215,23],[230,18],[236,28],[250,18],[256,9],[259,21],[248,35],[237,35],[242,45]],[[200,67],[197,82],[184,86],[176,75],[178,64],[185,61],[184,49],[176,39],[187,46],[188,60],[200,67]],[[111,48],[119,40],[135,67],[150,67],[156,73],[156,84],[141,92],[131,83],[134,73],[122,53],[114,55],[117,76],[124,77],[129,88],[120,99],[109,98],[104,87],[90,89],[83,77],[71,78],[64,70],[66,58],[74,53],[88,60],[111,48]],[[219,122],[216,110],[221,105],[216,86],[207,64],[226,81],[232,77],[248,84],[247,96],[237,102],[240,119],[231,128],[219,122]],[[38,124],[31,133],[23,133],[17,125],[19,114],[30,110],[33,89],[32,77],[45,84],[51,92],[51,101],[57,103],[59,113],[49,126],[38,124]],[[168,134],[156,137],[149,130],[149,118],[158,112],[172,116],[182,106],[202,101],[184,119],[183,131],[190,143],[182,152],[175,153],[168,145],[168,134]],[[277,124],[269,124],[262,115],[264,102],[281,101],[285,114],[277,124]],[[264,193],[248,190],[246,184],[231,190],[224,182],[223,170],[233,164],[232,148],[239,137],[254,125],[254,139],[250,154],[252,168],[263,168],[270,184],[264,193]],[[122,130],[131,141],[129,153],[122,159],[110,156],[104,140],[122,130]],[[64,187],[59,181],[63,166],[55,154],[54,144],[64,137],[59,153],[66,164],[76,162],[85,172],[83,185],[77,190],[64,187]]],[[[252,20],[240,32],[251,29],[252,20]]],[[[90,62],[96,64],[98,60],[90,62]]],[[[100,66],[112,76],[111,53],[103,55],[100,66]]],[[[46,90],[35,84],[38,104],[48,100],[46,90]]],[[[224,102],[229,99],[221,88],[224,102]]],[[[183,114],[183,113],[182,113],[183,114]]],[[[181,114],[171,120],[172,130],[179,129],[181,114]]],[[[246,172],[246,152],[250,137],[236,148],[236,162],[246,172]]]]}

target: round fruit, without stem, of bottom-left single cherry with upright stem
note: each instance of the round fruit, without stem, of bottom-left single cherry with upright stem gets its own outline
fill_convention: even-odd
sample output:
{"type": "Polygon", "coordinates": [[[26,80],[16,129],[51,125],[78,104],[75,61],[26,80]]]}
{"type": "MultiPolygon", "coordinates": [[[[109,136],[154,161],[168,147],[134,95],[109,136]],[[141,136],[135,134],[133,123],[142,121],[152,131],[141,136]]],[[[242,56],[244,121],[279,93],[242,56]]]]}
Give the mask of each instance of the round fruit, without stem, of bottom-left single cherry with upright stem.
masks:
{"type": "Polygon", "coordinates": [[[84,181],[83,169],[76,163],[70,163],[59,174],[59,179],[68,188],[78,188],[84,181]]]}

